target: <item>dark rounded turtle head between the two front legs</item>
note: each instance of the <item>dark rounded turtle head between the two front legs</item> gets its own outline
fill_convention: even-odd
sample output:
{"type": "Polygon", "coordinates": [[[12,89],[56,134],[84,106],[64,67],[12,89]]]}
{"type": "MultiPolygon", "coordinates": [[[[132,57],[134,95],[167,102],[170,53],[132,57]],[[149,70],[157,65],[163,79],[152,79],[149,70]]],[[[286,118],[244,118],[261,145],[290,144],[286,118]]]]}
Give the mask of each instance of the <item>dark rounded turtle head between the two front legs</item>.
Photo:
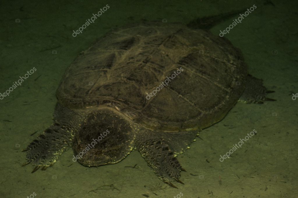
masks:
{"type": "Polygon", "coordinates": [[[129,121],[110,108],[89,113],[75,135],[73,161],[84,166],[121,161],[133,148],[132,130],[129,121]]]}

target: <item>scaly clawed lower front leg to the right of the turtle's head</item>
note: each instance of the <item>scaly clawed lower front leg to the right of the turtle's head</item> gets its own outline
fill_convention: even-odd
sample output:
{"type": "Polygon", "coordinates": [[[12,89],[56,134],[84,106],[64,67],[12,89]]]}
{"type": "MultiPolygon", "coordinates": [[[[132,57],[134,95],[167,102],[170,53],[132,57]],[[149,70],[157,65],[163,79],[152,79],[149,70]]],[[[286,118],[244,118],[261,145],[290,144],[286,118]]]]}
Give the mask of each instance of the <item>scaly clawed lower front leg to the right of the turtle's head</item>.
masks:
{"type": "Polygon", "coordinates": [[[177,188],[171,182],[178,181],[182,183],[178,178],[180,178],[181,170],[185,170],[181,167],[177,158],[174,157],[169,145],[163,141],[156,139],[145,140],[139,143],[137,147],[159,179],[173,188],[177,188]]]}

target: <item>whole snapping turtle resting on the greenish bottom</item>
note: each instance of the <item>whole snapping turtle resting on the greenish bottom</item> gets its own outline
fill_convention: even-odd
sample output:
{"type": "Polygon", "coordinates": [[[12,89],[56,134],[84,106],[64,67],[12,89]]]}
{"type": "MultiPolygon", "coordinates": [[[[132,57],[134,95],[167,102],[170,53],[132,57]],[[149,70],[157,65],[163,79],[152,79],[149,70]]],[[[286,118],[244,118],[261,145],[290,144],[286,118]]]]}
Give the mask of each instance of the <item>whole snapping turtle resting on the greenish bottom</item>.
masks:
{"type": "Polygon", "coordinates": [[[272,100],[262,80],[247,74],[240,50],[207,30],[231,15],[188,26],[143,22],[101,38],[66,70],[54,124],[23,150],[23,165],[45,170],[70,147],[85,166],[114,164],[138,150],[162,181],[182,183],[176,156],[201,129],[239,99],[272,100]]]}

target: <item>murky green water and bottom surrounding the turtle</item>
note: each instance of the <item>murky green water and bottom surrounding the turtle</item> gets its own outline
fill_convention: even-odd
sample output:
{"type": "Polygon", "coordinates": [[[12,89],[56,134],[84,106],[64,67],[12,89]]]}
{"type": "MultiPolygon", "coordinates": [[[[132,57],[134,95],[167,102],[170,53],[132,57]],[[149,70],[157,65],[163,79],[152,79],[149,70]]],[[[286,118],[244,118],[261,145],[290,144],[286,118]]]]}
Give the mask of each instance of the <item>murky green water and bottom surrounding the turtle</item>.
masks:
{"type": "MultiPolygon", "coordinates": [[[[0,197],[298,196],[296,1],[1,1],[0,16],[0,93],[11,90],[0,95],[0,197]],[[72,35],[107,4],[99,18],[72,35]],[[46,171],[31,174],[31,165],[21,167],[26,156],[21,150],[52,123],[65,69],[106,32],[143,19],[186,24],[253,5],[254,11],[224,37],[242,51],[249,73],[276,91],[270,97],[277,101],[236,104],[221,122],[200,132],[178,156],[187,170],[181,173],[184,185],[167,186],[137,151],[97,168],[74,163],[71,149],[46,171]],[[219,161],[253,130],[256,136],[219,161]]],[[[211,32],[219,35],[233,19],[211,32]]]]}

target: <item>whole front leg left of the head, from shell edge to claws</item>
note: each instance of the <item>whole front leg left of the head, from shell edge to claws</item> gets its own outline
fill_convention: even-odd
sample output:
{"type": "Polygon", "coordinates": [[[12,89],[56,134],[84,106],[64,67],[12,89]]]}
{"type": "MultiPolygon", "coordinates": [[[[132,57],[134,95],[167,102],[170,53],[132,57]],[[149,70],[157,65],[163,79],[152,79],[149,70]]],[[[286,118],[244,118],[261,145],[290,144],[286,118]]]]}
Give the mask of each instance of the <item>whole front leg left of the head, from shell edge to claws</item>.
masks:
{"type": "Polygon", "coordinates": [[[74,134],[80,126],[80,114],[59,103],[56,105],[55,112],[57,115],[54,124],[23,150],[27,152],[27,162],[22,166],[35,165],[32,173],[40,167],[42,167],[41,170],[46,170],[47,167],[52,166],[58,156],[71,147],[74,134]]]}

